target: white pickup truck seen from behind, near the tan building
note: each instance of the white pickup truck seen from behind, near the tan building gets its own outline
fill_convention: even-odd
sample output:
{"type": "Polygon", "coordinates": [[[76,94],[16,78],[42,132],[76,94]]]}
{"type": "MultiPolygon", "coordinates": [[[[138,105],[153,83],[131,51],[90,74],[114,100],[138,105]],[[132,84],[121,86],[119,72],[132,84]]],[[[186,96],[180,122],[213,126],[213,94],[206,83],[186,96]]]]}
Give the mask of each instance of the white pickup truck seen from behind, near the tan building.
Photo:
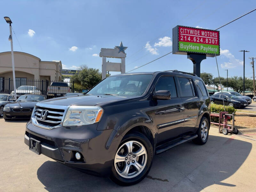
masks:
{"type": "Polygon", "coordinates": [[[61,97],[70,92],[70,87],[65,82],[52,82],[47,89],[47,96],[61,97]]]}

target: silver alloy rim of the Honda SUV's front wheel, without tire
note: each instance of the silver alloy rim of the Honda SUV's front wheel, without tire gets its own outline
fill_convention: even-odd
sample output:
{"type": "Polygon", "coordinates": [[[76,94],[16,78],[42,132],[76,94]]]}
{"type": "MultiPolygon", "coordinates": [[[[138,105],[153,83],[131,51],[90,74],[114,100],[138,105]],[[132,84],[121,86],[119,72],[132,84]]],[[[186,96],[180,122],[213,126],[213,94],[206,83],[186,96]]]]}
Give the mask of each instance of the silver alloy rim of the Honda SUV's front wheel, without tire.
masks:
{"type": "Polygon", "coordinates": [[[147,164],[147,151],[138,141],[124,143],[116,152],[114,165],[116,172],[123,178],[139,175],[147,164]]]}

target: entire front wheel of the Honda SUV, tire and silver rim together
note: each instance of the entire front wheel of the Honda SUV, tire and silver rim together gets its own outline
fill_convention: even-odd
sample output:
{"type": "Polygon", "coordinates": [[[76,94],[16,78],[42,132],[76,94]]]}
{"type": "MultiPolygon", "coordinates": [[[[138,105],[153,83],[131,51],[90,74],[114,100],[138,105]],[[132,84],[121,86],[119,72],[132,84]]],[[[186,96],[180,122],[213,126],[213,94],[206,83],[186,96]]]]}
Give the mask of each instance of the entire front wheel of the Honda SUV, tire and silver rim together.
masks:
{"type": "Polygon", "coordinates": [[[152,165],[153,147],[140,132],[124,136],[114,157],[110,179],[121,186],[129,186],[143,180],[152,165]]]}

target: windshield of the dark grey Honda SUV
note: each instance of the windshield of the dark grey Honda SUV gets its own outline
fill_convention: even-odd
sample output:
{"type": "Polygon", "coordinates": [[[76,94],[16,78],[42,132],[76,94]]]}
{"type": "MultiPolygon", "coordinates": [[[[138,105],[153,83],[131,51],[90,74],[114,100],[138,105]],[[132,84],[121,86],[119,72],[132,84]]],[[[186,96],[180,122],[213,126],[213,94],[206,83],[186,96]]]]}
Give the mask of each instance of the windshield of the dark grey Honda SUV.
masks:
{"type": "Polygon", "coordinates": [[[142,95],[153,75],[120,75],[110,76],[86,94],[93,95],[125,95],[138,96],[142,95]]]}

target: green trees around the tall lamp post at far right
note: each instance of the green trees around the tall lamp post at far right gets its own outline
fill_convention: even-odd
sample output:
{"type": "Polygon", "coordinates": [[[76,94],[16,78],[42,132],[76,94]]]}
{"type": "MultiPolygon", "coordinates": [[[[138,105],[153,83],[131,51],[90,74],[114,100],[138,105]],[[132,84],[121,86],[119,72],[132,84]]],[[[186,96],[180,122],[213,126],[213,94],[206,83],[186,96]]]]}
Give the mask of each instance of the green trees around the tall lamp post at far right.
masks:
{"type": "Polygon", "coordinates": [[[228,86],[239,93],[242,93],[244,91],[244,87],[245,91],[251,91],[253,89],[252,79],[249,79],[247,77],[245,79],[238,76],[230,77],[228,78],[228,86]]]}

